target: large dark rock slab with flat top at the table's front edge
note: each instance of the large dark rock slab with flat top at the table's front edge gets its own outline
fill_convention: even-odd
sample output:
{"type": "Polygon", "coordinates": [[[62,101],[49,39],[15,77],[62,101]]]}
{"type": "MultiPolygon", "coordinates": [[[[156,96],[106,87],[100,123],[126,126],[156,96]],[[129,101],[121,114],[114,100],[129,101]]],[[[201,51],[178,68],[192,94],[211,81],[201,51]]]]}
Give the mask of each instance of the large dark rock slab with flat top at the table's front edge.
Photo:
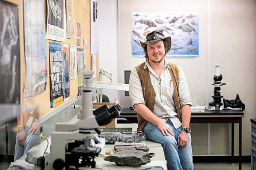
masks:
{"type": "Polygon", "coordinates": [[[119,151],[106,157],[104,160],[115,162],[118,166],[133,167],[139,167],[151,162],[150,154],[143,151],[119,151]]]}

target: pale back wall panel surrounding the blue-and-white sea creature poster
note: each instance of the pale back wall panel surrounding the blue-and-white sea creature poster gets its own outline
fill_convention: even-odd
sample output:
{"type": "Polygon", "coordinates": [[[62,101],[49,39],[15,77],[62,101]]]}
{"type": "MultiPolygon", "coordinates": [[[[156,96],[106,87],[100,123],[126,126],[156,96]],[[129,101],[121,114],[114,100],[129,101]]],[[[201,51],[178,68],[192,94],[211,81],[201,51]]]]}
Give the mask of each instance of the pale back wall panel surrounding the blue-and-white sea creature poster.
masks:
{"type": "MultiPolygon", "coordinates": [[[[208,87],[208,10],[207,1],[118,1],[119,3],[119,72],[131,70],[136,65],[145,61],[144,57],[135,58],[131,54],[131,13],[132,12],[181,12],[198,11],[199,13],[199,52],[200,57],[195,58],[166,58],[167,61],[180,65],[186,75],[193,100],[199,96],[208,103],[210,95],[208,87]],[[157,3],[156,3],[157,2],[157,3]],[[120,67],[121,66],[121,67],[120,67]],[[200,68],[198,67],[200,66],[200,68]],[[202,70],[205,71],[202,74],[202,70]],[[193,90],[193,89],[201,89],[193,90]]],[[[123,74],[119,74],[123,81],[123,74]]],[[[131,106],[129,97],[121,98],[121,103],[131,106]]],[[[125,107],[127,107],[125,106],[125,107]]]]}

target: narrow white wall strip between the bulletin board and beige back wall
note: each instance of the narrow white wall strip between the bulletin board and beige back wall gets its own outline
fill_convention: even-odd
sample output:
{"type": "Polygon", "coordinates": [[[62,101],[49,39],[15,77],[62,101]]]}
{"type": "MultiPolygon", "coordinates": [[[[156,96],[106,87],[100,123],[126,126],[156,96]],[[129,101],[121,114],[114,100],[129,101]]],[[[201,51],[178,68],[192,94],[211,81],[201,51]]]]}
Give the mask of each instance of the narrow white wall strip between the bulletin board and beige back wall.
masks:
{"type": "MultiPolygon", "coordinates": [[[[118,82],[118,10],[117,0],[98,0],[99,11],[99,68],[111,72],[118,82]]],[[[103,81],[110,82],[103,76],[103,81]]],[[[117,90],[102,89],[110,102],[118,97],[117,90]]]]}

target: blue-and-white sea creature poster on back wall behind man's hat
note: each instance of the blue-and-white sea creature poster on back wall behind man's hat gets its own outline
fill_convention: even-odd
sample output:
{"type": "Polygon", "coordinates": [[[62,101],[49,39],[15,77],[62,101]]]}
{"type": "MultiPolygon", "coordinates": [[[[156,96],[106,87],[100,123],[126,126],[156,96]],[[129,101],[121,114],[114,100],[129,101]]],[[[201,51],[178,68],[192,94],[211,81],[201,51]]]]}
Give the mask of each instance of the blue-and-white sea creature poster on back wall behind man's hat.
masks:
{"type": "Polygon", "coordinates": [[[166,57],[198,57],[198,13],[197,12],[133,12],[132,56],[144,57],[139,40],[158,31],[172,38],[172,46],[166,57]]]}

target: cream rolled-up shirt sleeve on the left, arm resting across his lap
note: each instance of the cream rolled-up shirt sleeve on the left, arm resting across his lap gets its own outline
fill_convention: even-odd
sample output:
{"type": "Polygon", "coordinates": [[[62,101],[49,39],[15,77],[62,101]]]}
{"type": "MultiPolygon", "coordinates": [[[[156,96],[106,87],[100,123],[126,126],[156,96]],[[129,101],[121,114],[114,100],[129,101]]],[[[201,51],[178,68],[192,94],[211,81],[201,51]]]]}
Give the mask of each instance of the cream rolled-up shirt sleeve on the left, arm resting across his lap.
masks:
{"type": "Polygon", "coordinates": [[[129,80],[129,95],[132,101],[132,105],[135,104],[145,104],[143,98],[142,87],[140,83],[139,76],[137,74],[136,68],[131,71],[130,80],[129,80]]]}

